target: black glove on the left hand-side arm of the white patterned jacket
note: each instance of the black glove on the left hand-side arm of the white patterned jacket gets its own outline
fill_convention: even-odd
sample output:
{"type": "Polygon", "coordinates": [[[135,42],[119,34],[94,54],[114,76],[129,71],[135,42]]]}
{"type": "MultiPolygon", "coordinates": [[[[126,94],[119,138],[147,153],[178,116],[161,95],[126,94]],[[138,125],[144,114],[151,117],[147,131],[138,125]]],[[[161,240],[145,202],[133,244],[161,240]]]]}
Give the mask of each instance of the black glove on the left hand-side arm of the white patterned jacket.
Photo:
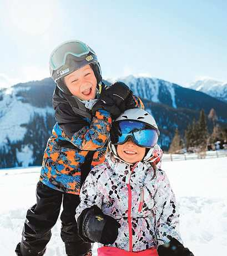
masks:
{"type": "Polygon", "coordinates": [[[120,224],[112,216],[105,215],[94,205],[84,209],[77,220],[78,234],[89,243],[113,244],[118,237],[120,224]]]}

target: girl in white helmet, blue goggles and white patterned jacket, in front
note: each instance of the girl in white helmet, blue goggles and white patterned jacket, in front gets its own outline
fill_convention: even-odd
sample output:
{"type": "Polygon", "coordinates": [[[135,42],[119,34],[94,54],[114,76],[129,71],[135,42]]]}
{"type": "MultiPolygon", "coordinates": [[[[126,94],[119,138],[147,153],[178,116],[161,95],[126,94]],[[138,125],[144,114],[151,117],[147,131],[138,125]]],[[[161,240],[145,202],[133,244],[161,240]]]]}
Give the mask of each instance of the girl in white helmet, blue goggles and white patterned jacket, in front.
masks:
{"type": "Polygon", "coordinates": [[[99,243],[98,256],[193,256],[181,244],[167,175],[157,168],[158,136],[154,118],[142,109],[115,120],[110,151],[85,180],[76,214],[80,237],[99,243]]]}

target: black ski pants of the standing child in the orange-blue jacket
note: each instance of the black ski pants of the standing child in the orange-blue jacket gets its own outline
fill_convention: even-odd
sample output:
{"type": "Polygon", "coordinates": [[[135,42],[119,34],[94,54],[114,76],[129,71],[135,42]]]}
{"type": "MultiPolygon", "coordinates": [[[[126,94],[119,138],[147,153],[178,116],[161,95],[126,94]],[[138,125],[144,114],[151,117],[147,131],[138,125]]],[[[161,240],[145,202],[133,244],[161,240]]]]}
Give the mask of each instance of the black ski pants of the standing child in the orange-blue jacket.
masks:
{"type": "Polygon", "coordinates": [[[36,255],[44,250],[51,239],[51,229],[57,222],[62,203],[60,237],[65,244],[66,253],[78,256],[87,253],[92,248],[91,244],[85,243],[78,237],[75,220],[75,209],[79,205],[78,195],[49,188],[39,181],[36,198],[37,203],[27,211],[22,232],[21,252],[28,251],[27,255],[31,255],[31,253],[36,255]]]}

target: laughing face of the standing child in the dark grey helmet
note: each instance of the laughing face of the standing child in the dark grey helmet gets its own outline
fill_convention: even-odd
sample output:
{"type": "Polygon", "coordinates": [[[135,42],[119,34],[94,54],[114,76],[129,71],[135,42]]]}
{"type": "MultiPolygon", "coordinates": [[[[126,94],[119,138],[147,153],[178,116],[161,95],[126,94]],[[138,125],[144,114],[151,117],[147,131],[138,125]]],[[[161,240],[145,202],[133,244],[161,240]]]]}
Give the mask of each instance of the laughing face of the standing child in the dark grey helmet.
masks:
{"type": "Polygon", "coordinates": [[[95,98],[97,80],[89,65],[65,76],[64,82],[72,95],[80,100],[92,100],[95,98]]]}

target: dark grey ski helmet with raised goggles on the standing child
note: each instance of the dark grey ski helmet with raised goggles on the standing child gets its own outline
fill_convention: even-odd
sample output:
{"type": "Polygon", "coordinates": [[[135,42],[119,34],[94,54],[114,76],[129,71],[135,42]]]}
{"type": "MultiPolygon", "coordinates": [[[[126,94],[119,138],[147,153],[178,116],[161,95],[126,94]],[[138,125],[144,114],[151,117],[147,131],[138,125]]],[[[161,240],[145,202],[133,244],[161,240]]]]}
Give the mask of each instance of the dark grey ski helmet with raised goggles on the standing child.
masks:
{"type": "Polygon", "coordinates": [[[98,58],[92,48],[85,43],[78,40],[66,41],[56,47],[49,58],[51,77],[58,88],[69,95],[71,93],[62,78],[88,64],[94,71],[98,85],[102,81],[102,71],[98,58]]]}

